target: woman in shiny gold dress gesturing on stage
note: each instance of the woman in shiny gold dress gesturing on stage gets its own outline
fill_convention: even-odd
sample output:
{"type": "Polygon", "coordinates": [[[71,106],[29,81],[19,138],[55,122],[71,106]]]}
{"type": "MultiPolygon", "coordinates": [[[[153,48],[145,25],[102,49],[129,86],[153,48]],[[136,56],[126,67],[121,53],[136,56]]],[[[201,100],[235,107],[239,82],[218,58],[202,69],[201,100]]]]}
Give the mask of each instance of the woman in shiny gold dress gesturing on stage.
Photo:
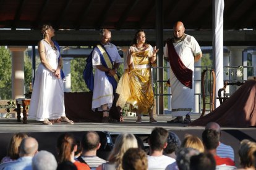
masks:
{"type": "Polygon", "coordinates": [[[156,66],[156,47],[146,44],[143,30],[138,30],[129,47],[127,61],[124,63],[124,75],[120,79],[116,92],[119,94],[117,105],[123,107],[126,102],[137,113],[136,123],[142,123],[142,115],[150,116],[150,123],[157,123],[153,118],[154,94],[151,81],[151,66],[156,66]]]}

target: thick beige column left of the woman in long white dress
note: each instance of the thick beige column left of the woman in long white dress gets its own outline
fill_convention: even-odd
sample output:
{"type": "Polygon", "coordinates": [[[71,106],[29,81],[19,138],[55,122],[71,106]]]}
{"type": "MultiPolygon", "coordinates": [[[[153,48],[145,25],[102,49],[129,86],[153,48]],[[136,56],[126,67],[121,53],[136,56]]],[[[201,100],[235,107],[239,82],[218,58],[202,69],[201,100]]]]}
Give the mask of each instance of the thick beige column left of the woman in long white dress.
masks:
{"type": "Polygon", "coordinates": [[[24,51],[27,46],[9,46],[12,54],[12,99],[23,98],[24,88],[24,51]]]}

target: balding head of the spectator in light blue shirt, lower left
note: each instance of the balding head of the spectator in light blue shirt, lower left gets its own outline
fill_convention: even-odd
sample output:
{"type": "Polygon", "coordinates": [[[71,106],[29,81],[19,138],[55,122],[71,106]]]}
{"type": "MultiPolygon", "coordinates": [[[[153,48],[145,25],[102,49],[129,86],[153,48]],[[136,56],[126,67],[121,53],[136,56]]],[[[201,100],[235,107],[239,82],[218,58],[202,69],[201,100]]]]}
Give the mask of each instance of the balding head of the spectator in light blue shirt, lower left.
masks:
{"type": "Polygon", "coordinates": [[[27,137],[22,139],[20,143],[20,152],[19,155],[21,156],[34,156],[38,150],[38,142],[33,137],[27,137]]]}

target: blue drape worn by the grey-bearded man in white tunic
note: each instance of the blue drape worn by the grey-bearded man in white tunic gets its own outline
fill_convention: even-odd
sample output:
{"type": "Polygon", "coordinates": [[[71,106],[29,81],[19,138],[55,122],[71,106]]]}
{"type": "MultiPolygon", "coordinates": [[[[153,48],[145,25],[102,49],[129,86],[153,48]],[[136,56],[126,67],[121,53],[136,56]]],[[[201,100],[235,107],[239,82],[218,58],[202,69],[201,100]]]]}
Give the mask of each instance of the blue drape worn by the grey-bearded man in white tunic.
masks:
{"type": "MultiPolygon", "coordinates": [[[[103,45],[100,44],[101,47],[103,47],[103,49],[105,49],[105,47],[103,45]]],[[[97,51],[98,54],[100,54],[100,61],[101,64],[103,66],[105,66],[106,68],[108,68],[108,65],[105,62],[105,59],[103,57],[103,55],[101,54],[100,50],[98,49],[98,47],[94,47],[92,52],[90,53],[90,55],[88,56],[87,60],[86,60],[86,65],[85,65],[85,69],[83,70],[83,79],[85,80],[85,83],[87,84],[88,89],[90,89],[90,91],[93,91],[93,86],[94,86],[94,77],[93,77],[93,65],[92,65],[92,53],[93,51],[97,51]]],[[[105,49],[106,51],[106,49],[105,49]]],[[[108,54],[108,51],[106,51],[106,53],[108,54]]],[[[108,54],[109,57],[109,54],[108,54]]],[[[109,60],[111,61],[112,65],[113,65],[113,61],[111,59],[111,57],[109,57],[109,60]]],[[[113,76],[109,76],[108,73],[106,73],[106,78],[108,79],[109,83],[112,84],[113,87],[113,92],[116,91],[116,87],[117,87],[117,82],[116,79],[114,79],[113,76]]]]}

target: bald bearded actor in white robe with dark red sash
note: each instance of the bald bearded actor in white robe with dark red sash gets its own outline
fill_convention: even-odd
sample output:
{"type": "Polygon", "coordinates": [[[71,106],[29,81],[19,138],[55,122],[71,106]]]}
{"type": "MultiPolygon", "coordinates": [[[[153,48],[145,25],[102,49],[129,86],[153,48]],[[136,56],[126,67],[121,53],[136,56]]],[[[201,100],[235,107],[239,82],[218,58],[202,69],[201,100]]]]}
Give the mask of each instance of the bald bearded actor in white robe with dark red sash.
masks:
{"type": "Polygon", "coordinates": [[[168,57],[171,67],[169,83],[174,117],[167,123],[190,123],[190,113],[194,107],[194,63],[202,57],[202,51],[195,38],[184,32],[183,23],[176,22],[173,38],[166,41],[164,48],[164,56],[168,57]]]}

